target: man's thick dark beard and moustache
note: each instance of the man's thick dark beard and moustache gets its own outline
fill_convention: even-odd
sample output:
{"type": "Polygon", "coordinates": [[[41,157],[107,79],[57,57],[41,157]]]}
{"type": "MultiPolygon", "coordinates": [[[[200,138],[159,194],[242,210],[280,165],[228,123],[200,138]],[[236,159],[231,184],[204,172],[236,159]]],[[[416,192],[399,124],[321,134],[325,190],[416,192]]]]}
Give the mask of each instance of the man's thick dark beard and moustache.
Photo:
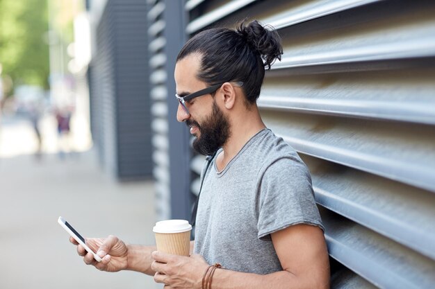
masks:
{"type": "Polygon", "coordinates": [[[196,121],[188,120],[186,125],[195,125],[199,129],[199,137],[193,141],[193,149],[202,155],[213,155],[222,148],[229,139],[230,125],[227,117],[217,107],[213,100],[213,110],[199,125],[196,121]]]}

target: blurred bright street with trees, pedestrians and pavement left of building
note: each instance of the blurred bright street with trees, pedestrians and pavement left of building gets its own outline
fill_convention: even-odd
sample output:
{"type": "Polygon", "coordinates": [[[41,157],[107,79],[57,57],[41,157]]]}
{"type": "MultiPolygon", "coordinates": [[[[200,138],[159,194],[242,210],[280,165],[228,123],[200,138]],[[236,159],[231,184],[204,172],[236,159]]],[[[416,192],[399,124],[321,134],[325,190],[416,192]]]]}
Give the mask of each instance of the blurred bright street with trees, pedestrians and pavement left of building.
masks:
{"type": "Polygon", "coordinates": [[[154,244],[154,182],[119,182],[92,143],[81,71],[90,52],[74,53],[81,2],[0,1],[2,289],[158,288],[138,272],[85,265],[57,223],[63,216],[83,236],[154,244]]]}

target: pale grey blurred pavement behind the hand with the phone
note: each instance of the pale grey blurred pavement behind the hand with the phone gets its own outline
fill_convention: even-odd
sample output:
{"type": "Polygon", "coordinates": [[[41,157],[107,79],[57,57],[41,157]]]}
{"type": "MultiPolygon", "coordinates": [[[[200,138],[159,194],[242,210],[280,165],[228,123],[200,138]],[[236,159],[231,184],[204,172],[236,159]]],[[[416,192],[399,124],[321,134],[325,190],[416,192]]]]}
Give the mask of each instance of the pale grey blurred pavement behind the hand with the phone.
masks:
{"type": "Polygon", "coordinates": [[[137,272],[85,265],[58,216],[84,236],[113,234],[127,243],[153,244],[154,187],[115,182],[92,150],[65,159],[0,158],[0,288],[161,288],[137,272]]]}

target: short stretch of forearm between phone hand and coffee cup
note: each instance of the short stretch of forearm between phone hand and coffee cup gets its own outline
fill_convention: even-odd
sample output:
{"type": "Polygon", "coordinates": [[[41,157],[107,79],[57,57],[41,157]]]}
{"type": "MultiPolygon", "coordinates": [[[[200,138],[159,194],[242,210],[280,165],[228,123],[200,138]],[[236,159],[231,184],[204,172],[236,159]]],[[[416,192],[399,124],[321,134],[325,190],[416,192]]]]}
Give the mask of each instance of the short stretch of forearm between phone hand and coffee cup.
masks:
{"type": "Polygon", "coordinates": [[[126,270],[142,272],[150,276],[154,276],[156,272],[151,270],[151,263],[154,261],[151,258],[151,253],[156,251],[156,246],[144,245],[127,245],[129,248],[128,264],[126,270]]]}

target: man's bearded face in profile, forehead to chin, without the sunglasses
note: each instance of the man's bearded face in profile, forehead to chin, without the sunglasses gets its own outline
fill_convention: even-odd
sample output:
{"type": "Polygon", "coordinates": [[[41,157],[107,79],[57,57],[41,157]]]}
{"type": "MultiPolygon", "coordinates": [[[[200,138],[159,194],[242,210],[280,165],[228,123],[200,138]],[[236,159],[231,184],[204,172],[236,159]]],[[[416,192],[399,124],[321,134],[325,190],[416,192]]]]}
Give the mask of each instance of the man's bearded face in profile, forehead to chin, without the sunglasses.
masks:
{"type": "MultiPolygon", "coordinates": [[[[174,76],[177,83],[177,94],[180,96],[208,87],[196,77],[199,64],[200,58],[197,55],[189,55],[177,62],[174,76]]],[[[216,94],[218,93],[219,89],[216,91],[216,94]]],[[[228,117],[217,106],[211,94],[194,98],[186,106],[188,106],[189,114],[179,105],[178,121],[186,121],[186,125],[190,127],[190,133],[195,135],[193,148],[202,155],[212,155],[229,139],[228,117]]]]}

